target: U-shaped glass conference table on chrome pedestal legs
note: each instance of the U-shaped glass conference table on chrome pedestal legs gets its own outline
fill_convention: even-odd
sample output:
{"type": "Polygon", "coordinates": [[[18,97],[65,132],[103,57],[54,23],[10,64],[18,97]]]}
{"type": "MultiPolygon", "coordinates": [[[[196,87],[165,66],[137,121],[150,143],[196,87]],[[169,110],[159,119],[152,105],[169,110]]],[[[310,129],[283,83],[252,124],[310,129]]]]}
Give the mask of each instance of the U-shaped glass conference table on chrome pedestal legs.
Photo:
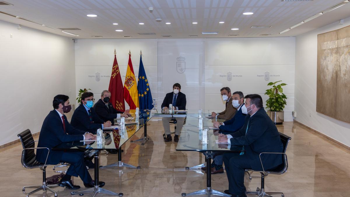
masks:
{"type": "MultiPolygon", "coordinates": [[[[129,167],[129,168],[138,168],[130,164],[123,163],[121,161],[121,146],[127,142],[133,135],[135,135],[141,128],[144,128],[144,138],[133,142],[142,142],[142,145],[148,140],[147,138],[147,122],[153,117],[186,117],[187,121],[184,126],[186,126],[186,135],[180,135],[179,142],[177,144],[176,150],[179,151],[198,151],[206,155],[207,166],[210,166],[211,158],[214,157],[216,152],[242,152],[242,147],[228,147],[227,144],[216,144],[215,140],[217,139],[218,132],[213,132],[212,130],[208,131],[208,144],[202,144],[201,132],[198,128],[198,110],[190,112],[176,112],[176,113],[159,113],[151,114],[150,112],[140,113],[139,121],[132,124],[128,124],[126,121],[125,131],[120,132],[119,129],[104,129],[104,142],[102,144],[97,144],[96,141],[75,141],[75,142],[65,142],[57,145],[52,148],[53,151],[79,151],[84,152],[85,156],[94,156],[94,188],[88,188],[81,191],[73,191],[71,195],[82,194],[82,193],[92,193],[92,197],[96,196],[98,193],[105,193],[115,196],[123,196],[123,193],[112,192],[99,187],[99,169],[107,167],[129,167]],[[118,162],[106,166],[99,165],[99,153],[101,150],[118,150],[118,162]]],[[[214,121],[223,121],[208,119],[203,117],[203,127],[212,126],[214,121]]],[[[199,166],[199,165],[198,165],[199,166]]],[[[200,167],[205,166],[203,164],[200,167]]],[[[191,167],[194,168],[194,167],[191,167]]],[[[186,167],[186,169],[191,169],[186,167]]],[[[198,167],[197,167],[198,168],[198,167]]],[[[229,196],[225,193],[211,189],[211,173],[210,168],[207,168],[207,188],[204,190],[192,192],[192,193],[182,193],[182,196],[190,195],[219,195],[219,196],[229,196]]]]}

